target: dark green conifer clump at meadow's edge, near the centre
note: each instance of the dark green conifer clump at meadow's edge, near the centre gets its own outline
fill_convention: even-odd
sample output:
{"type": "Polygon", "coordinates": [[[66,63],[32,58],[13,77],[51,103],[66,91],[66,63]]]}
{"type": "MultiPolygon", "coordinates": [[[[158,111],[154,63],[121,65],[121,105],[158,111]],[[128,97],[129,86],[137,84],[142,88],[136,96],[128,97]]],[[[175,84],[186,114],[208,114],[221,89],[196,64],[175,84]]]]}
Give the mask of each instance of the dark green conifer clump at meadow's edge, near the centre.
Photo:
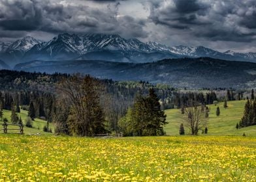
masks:
{"type": "Polygon", "coordinates": [[[123,128],[123,133],[133,136],[164,135],[166,115],[161,110],[155,90],[150,89],[148,97],[137,94],[131,111],[118,124],[123,128]],[[124,126],[127,128],[124,129],[124,126]]]}

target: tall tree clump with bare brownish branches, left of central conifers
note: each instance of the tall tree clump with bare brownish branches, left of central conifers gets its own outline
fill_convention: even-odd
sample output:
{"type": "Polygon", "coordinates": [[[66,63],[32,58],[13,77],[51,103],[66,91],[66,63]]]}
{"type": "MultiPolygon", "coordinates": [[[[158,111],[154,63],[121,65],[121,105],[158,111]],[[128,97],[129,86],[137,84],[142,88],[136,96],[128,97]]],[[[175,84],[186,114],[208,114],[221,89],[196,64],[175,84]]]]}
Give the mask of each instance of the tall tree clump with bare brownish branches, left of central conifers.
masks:
{"type": "Polygon", "coordinates": [[[72,75],[59,83],[59,91],[67,98],[71,107],[69,120],[70,133],[91,136],[106,133],[104,112],[100,103],[101,81],[86,75],[72,75]]]}

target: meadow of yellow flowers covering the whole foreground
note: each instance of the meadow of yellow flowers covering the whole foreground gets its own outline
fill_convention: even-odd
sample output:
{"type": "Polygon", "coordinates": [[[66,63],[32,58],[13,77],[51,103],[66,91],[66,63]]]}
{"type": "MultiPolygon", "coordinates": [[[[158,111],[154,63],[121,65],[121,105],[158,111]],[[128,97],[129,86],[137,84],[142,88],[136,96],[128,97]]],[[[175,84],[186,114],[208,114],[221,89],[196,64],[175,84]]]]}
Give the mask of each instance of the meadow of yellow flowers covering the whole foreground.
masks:
{"type": "Polygon", "coordinates": [[[256,181],[256,138],[0,135],[0,181],[256,181]]]}

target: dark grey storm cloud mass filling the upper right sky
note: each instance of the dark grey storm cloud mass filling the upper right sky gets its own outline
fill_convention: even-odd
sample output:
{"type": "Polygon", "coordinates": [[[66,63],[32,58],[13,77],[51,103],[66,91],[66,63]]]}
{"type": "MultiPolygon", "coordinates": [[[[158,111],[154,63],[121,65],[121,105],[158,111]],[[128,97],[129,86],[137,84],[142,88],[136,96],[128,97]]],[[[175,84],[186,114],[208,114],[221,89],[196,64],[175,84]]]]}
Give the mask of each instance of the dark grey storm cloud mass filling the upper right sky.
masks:
{"type": "Polygon", "coordinates": [[[251,42],[256,35],[256,1],[173,0],[152,3],[150,19],[167,29],[185,30],[191,38],[251,42]],[[156,6],[157,5],[157,6],[156,6]]]}

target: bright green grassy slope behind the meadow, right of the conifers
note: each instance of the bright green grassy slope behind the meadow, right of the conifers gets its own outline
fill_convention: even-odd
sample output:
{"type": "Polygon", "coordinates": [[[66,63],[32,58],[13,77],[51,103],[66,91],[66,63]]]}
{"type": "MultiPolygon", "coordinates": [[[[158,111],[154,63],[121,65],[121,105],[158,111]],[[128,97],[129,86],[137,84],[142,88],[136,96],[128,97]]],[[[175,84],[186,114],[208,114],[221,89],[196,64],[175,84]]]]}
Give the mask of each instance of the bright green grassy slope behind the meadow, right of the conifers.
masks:
{"type": "MultiPolygon", "coordinates": [[[[241,136],[246,133],[247,136],[256,136],[256,125],[236,129],[236,123],[240,121],[244,113],[244,105],[246,101],[228,101],[228,108],[223,108],[223,103],[215,105],[208,105],[210,107],[210,115],[208,120],[208,134],[207,135],[238,135],[241,136]],[[216,108],[219,107],[221,114],[216,116],[216,108]]],[[[182,120],[180,109],[165,110],[167,114],[168,125],[165,127],[167,135],[178,135],[180,123],[182,120]]],[[[185,123],[184,123],[185,124],[185,123]]],[[[189,133],[189,129],[185,127],[185,133],[189,133]]],[[[200,132],[199,132],[200,134],[200,132]]]]}

